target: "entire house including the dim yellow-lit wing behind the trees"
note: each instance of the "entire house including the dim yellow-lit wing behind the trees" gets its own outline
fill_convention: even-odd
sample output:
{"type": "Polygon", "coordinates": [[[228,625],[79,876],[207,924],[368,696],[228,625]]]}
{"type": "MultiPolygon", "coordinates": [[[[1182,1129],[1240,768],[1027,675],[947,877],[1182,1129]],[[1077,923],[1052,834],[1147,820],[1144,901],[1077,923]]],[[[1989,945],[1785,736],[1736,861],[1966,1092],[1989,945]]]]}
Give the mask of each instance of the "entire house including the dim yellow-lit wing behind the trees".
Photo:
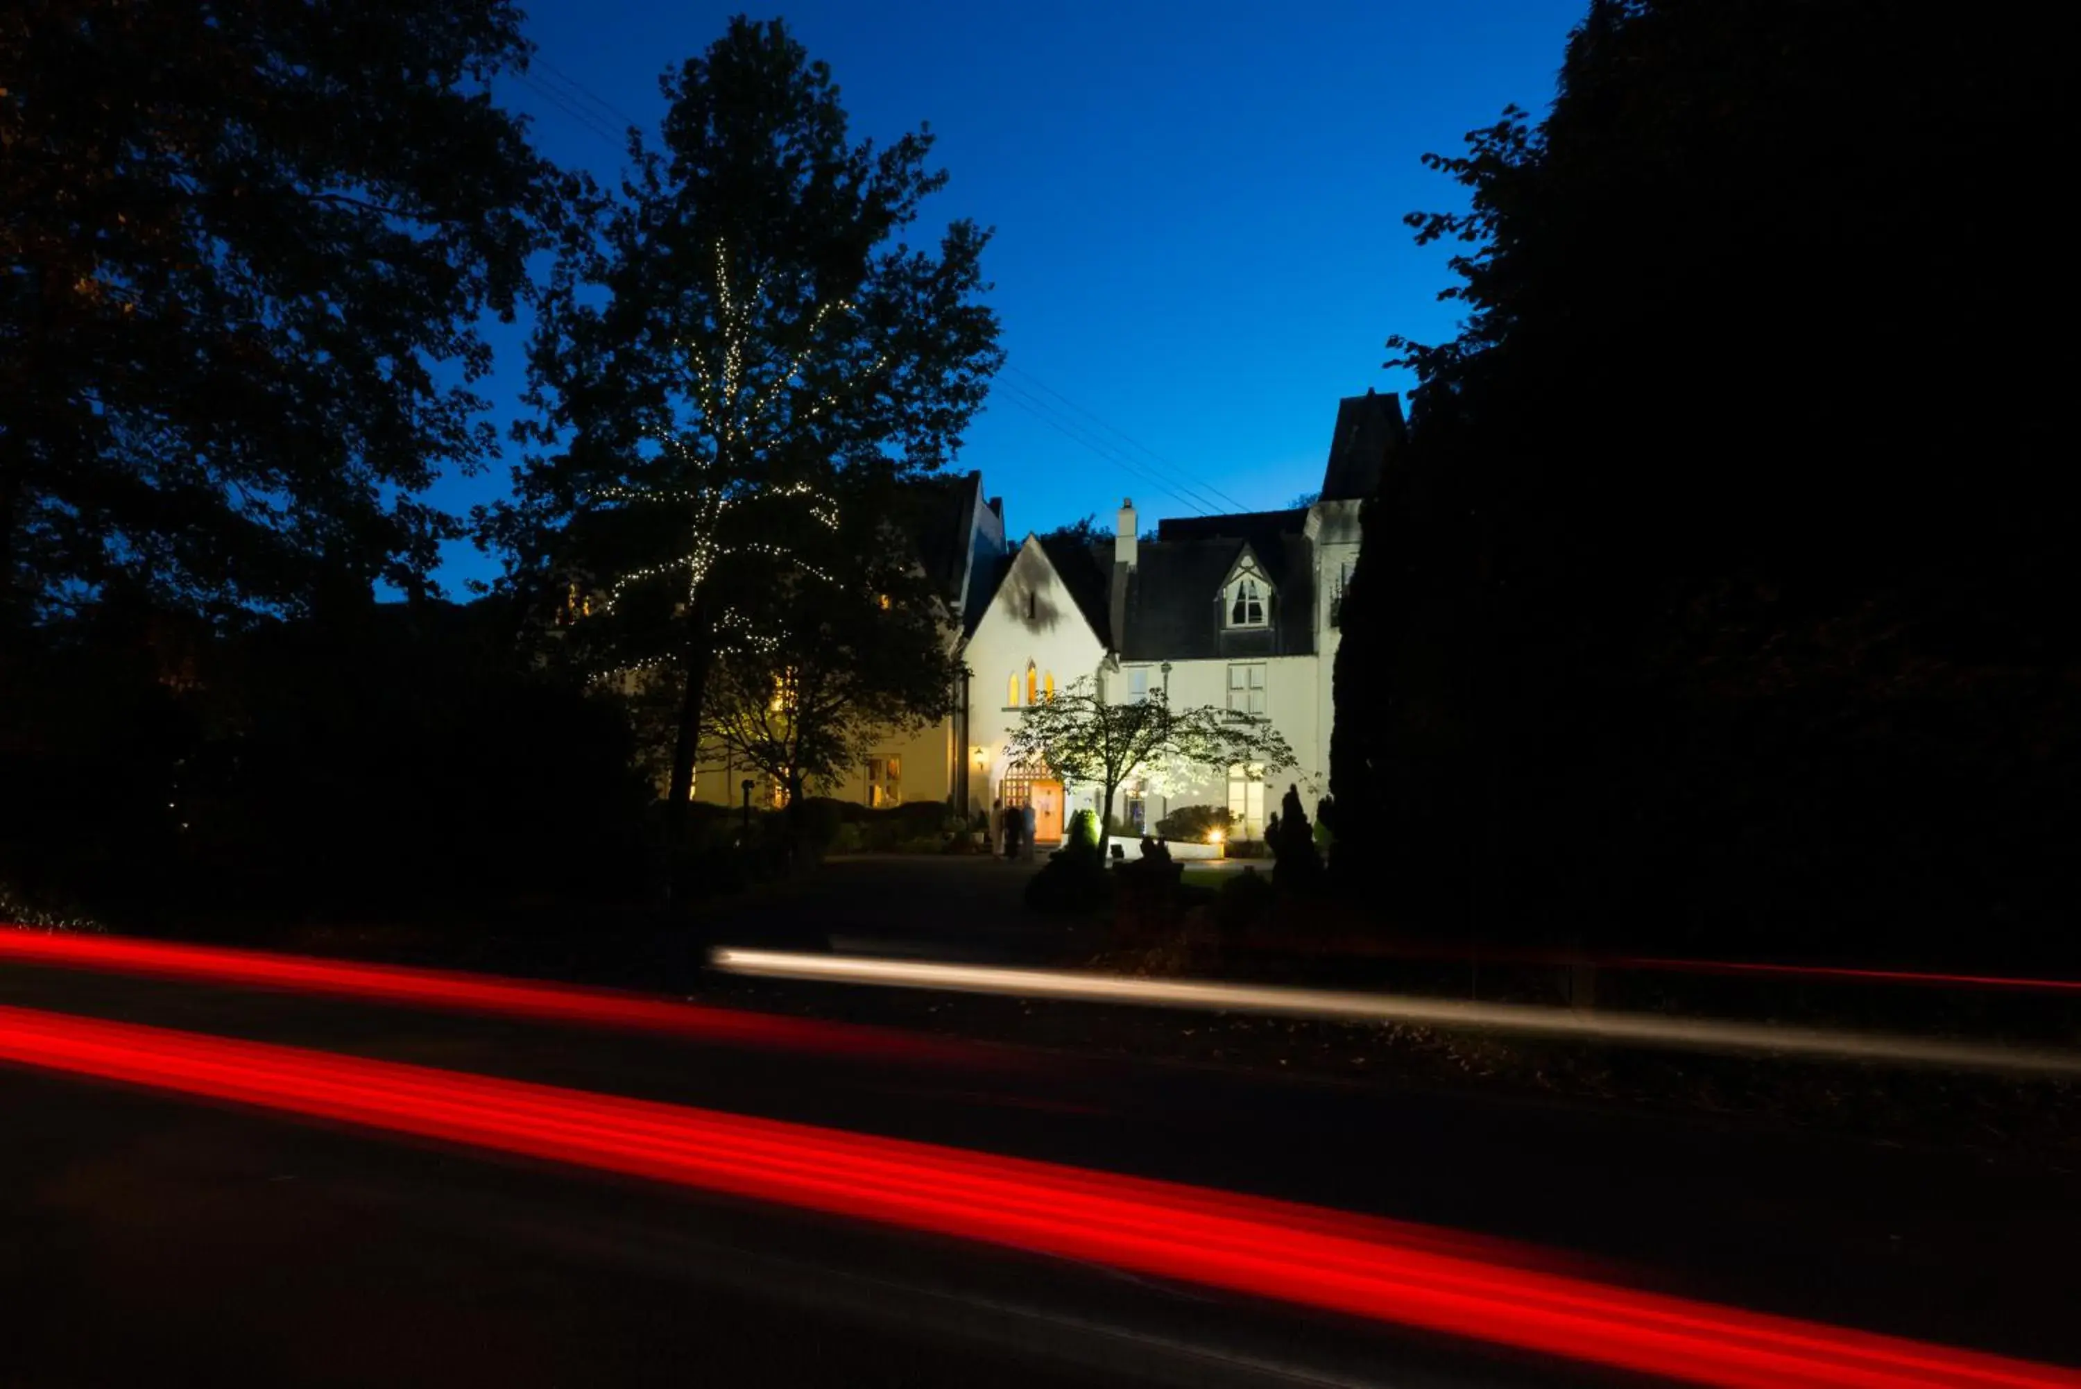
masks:
{"type": "MultiPolygon", "coordinates": [[[[968,677],[953,712],[918,731],[891,731],[845,779],[812,785],[866,806],[934,802],[984,812],[993,802],[1034,806],[1034,837],[1061,837],[1068,814],[1099,808],[1097,787],[1063,785],[1009,764],[1020,712],[1090,677],[1113,702],[1165,689],[1174,706],[1215,704],[1263,714],[1301,766],[1276,779],[1228,768],[1201,785],[1155,795],[1128,785],[1115,814],[1155,825],[1174,806],[1228,806],[1240,835],[1261,837],[1278,793],[1328,789],[1338,606],[1359,558],[1359,504],[1380,487],[1403,441],[1396,396],[1338,404],[1321,496],[1276,512],[1167,519],[1140,539],[1132,500],[1115,533],[1090,546],[1028,533],[1011,546],[1003,498],[982,475],[922,479],[903,529],[947,604],[949,639],[968,677]]],[[[772,781],[722,750],[703,750],[695,800],[737,804],[753,779],[757,804],[778,804],[772,781]]]]}

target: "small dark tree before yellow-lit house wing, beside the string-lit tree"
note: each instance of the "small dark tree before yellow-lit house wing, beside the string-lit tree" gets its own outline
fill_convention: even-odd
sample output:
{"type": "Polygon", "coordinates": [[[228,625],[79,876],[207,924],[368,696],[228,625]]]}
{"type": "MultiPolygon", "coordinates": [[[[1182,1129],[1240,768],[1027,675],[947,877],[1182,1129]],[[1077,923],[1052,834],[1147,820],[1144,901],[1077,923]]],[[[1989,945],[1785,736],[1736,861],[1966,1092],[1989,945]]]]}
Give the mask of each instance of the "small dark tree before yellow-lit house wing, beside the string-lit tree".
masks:
{"type": "Polygon", "coordinates": [[[891,731],[943,718],[959,677],[945,604],[893,527],[872,529],[812,550],[824,577],[782,577],[768,625],[716,662],[708,739],[787,787],[797,831],[807,783],[857,768],[891,731]]]}

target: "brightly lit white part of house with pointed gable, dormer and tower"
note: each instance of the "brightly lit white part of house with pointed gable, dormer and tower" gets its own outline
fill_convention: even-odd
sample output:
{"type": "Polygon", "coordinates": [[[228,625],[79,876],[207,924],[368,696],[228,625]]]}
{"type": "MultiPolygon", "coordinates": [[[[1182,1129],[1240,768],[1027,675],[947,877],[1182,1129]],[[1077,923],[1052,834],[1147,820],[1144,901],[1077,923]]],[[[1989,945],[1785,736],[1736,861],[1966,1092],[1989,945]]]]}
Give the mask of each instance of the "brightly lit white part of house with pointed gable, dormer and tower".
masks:
{"type": "Polygon", "coordinates": [[[1001,562],[964,643],[970,681],[957,718],[978,773],[966,804],[1032,804],[1043,841],[1061,837],[1068,812],[1103,810],[1097,787],[1061,785],[1005,758],[1020,710],[1080,677],[1109,702],[1163,689],[1174,706],[1263,714],[1301,758],[1274,781],[1234,766],[1167,798],[1130,785],[1115,806],[1124,820],[1153,825],[1172,806],[1226,804],[1240,835],[1261,837],[1276,787],[1326,791],[1330,677],[1359,558],[1359,504],[1380,487],[1403,433],[1398,398],[1367,392],[1338,404],[1321,496],[1309,506],[1161,521],[1145,541],[1126,500],[1111,539],[1028,535],[1001,562]]]}

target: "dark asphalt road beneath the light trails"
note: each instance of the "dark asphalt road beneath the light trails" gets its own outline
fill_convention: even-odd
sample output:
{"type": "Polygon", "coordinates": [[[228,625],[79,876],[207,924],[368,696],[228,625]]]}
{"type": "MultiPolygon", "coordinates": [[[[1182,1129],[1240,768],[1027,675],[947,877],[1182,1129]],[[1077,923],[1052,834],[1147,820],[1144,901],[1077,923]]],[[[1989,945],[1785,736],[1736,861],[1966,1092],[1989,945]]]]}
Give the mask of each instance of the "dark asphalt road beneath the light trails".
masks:
{"type": "MultiPolygon", "coordinates": [[[[2081,1183],[2041,1164],[1186,1066],[868,1066],[62,970],[0,970],[0,1004],[1371,1210],[1659,1291],[2081,1362],[2081,1183]]],[[[58,1077],[0,1072],[0,1116],[10,1385],[1563,1383],[1059,1260],[58,1077]]]]}

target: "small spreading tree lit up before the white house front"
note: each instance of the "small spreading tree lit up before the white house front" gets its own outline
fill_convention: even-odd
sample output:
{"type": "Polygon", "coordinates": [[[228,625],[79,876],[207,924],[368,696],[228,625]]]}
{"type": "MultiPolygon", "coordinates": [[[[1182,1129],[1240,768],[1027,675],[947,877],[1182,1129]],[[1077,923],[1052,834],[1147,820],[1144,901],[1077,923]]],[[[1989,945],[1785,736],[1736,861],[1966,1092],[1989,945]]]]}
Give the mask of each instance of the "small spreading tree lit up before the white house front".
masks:
{"type": "Polygon", "coordinates": [[[1163,689],[1147,700],[1107,704],[1088,675],[1053,700],[1020,710],[1007,756],[1013,766],[1049,768],[1063,781],[1101,789],[1099,850],[1105,852],[1113,800],[1132,777],[1184,781],[1192,773],[1242,766],[1261,781],[1296,766],[1292,746],[1263,714],[1236,714],[1215,704],[1172,708],[1163,689]]]}

